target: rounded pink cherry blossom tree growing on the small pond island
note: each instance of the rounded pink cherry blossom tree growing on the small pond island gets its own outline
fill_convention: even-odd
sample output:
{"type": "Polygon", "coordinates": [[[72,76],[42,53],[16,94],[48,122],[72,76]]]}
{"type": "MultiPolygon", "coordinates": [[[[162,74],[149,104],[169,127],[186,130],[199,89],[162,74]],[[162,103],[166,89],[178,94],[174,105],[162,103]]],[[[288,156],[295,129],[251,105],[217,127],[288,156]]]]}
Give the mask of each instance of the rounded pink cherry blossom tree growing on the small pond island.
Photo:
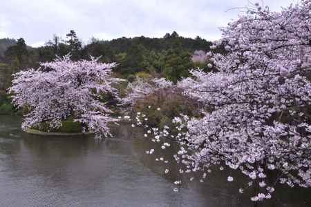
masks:
{"type": "Polygon", "coordinates": [[[114,83],[120,79],[111,76],[115,63],[71,61],[69,55],[55,61],[40,63],[40,67],[18,72],[12,80],[12,103],[28,112],[22,128],[26,130],[48,123],[50,128],[59,128],[66,117],[85,124],[97,135],[110,135],[107,124],[117,121],[111,110],[101,101],[109,93],[119,99],[114,83]]]}

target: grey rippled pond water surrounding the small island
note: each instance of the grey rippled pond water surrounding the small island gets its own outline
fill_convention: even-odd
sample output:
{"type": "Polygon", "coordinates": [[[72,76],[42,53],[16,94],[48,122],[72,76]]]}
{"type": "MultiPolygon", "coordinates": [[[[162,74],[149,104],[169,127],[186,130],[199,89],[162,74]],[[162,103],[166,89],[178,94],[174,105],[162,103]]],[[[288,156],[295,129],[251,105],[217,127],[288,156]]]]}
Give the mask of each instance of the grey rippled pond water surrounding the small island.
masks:
{"type": "MultiPolygon", "coordinates": [[[[0,206],[253,206],[252,190],[241,195],[238,175],[229,183],[223,171],[173,192],[176,175],[146,155],[154,146],[139,129],[120,126],[98,141],[28,135],[20,126],[20,117],[0,116],[0,206]]],[[[311,206],[310,193],[279,186],[258,206],[311,206]]]]}

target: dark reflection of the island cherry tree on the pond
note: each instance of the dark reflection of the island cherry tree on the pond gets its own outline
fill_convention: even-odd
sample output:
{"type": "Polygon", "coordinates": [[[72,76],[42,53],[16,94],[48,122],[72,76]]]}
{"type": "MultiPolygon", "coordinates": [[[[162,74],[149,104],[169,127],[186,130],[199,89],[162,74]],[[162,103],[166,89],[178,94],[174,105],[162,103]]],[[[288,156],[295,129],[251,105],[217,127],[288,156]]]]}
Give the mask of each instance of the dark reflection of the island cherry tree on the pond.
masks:
{"type": "Polygon", "coordinates": [[[84,181],[95,188],[111,175],[114,159],[131,154],[131,145],[118,141],[119,138],[117,134],[113,139],[100,141],[92,136],[41,137],[21,133],[21,139],[8,146],[10,160],[6,163],[14,172],[12,176],[19,179],[37,176],[51,187],[64,184],[59,186],[62,188],[78,188],[84,181]]]}

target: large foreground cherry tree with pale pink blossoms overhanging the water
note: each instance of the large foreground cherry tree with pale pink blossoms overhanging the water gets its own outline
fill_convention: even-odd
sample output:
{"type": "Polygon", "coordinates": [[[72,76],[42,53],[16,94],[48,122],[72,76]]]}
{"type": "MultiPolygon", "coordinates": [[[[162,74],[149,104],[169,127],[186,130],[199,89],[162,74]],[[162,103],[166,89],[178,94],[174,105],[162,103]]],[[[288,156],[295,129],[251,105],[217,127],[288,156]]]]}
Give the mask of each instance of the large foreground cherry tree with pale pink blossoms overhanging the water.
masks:
{"type": "Polygon", "coordinates": [[[177,84],[209,110],[176,117],[177,134],[148,128],[138,115],[145,137],[153,134],[162,149],[165,140],[178,141],[180,173],[202,171],[204,179],[213,166],[239,170],[249,179],[240,193],[258,186],[252,201],[270,199],[277,183],[311,187],[310,11],[310,0],[281,12],[256,3],[222,28],[223,39],[211,48],[221,44],[227,54],[208,54],[218,72],[191,70],[177,84]]]}

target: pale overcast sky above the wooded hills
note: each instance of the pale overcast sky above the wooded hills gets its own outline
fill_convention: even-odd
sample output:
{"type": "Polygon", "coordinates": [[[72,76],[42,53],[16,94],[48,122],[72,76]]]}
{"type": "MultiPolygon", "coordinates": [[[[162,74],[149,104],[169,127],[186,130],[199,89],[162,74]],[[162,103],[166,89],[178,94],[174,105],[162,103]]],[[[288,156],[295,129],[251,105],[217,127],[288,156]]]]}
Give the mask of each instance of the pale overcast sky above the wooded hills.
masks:
{"type": "MultiPolygon", "coordinates": [[[[280,10],[296,1],[263,3],[280,10]]],[[[174,30],[215,40],[221,37],[218,28],[240,12],[229,9],[247,5],[247,0],[1,0],[0,38],[23,37],[28,45],[40,46],[53,34],[64,38],[73,29],[84,43],[91,37],[163,37],[174,30]]]]}

